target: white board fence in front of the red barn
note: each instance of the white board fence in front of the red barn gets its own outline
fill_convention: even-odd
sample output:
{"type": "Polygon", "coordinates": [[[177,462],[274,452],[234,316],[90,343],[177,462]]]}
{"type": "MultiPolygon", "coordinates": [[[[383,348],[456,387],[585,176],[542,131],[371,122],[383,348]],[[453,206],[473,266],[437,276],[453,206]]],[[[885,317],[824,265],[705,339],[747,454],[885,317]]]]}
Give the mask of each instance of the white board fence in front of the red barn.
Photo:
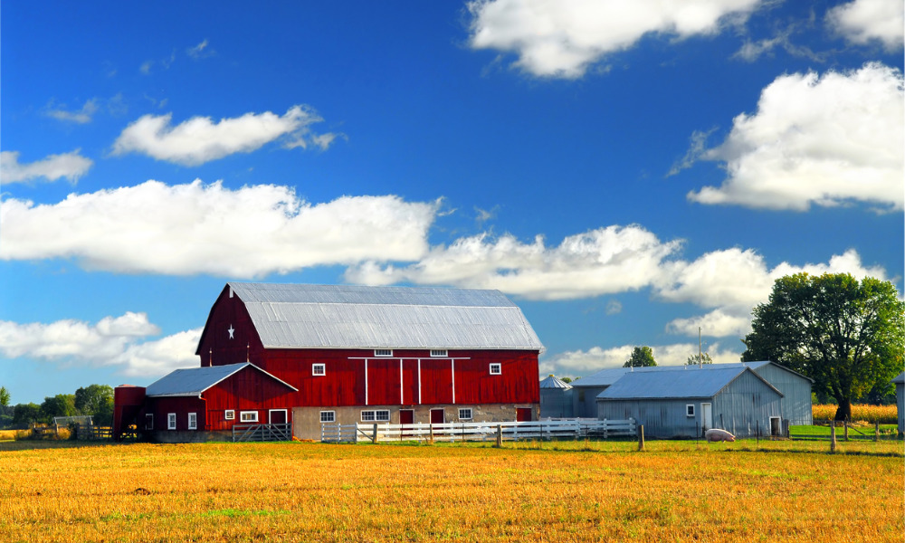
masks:
{"type": "Polygon", "coordinates": [[[325,443],[391,441],[461,442],[583,439],[630,436],[637,433],[634,419],[555,419],[529,423],[445,424],[321,424],[325,443]]]}

